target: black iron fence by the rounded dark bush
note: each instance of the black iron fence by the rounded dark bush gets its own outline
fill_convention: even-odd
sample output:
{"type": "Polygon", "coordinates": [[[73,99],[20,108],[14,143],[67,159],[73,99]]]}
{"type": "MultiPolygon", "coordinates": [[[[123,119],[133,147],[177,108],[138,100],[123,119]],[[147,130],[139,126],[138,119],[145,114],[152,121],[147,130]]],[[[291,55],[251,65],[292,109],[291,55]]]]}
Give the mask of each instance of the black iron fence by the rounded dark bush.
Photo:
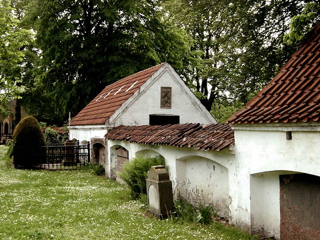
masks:
{"type": "Polygon", "coordinates": [[[48,145],[13,147],[15,167],[46,169],[74,168],[90,163],[90,143],[87,145],[48,145]]]}

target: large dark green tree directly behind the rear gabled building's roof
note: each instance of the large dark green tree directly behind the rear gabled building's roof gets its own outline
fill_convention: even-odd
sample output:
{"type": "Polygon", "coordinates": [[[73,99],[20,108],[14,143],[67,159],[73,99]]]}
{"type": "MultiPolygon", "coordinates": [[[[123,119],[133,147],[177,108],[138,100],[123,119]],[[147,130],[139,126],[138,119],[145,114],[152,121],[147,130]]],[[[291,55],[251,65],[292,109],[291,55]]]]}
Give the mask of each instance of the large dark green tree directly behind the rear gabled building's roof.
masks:
{"type": "Polygon", "coordinates": [[[34,0],[27,20],[41,50],[37,82],[62,120],[105,85],[160,62],[180,71],[188,47],[163,22],[161,0],[34,0]]]}

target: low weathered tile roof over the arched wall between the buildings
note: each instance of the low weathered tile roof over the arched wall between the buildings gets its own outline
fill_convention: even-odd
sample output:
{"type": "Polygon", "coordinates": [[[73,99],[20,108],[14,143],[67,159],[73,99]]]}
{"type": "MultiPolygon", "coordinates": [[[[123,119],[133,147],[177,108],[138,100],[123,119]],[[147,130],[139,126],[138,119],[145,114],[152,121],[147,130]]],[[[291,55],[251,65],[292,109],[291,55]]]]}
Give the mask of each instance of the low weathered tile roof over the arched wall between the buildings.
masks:
{"type": "Polygon", "coordinates": [[[168,125],[117,126],[104,136],[109,140],[141,144],[196,147],[221,150],[234,142],[233,130],[227,124],[184,123],[168,125]]]}

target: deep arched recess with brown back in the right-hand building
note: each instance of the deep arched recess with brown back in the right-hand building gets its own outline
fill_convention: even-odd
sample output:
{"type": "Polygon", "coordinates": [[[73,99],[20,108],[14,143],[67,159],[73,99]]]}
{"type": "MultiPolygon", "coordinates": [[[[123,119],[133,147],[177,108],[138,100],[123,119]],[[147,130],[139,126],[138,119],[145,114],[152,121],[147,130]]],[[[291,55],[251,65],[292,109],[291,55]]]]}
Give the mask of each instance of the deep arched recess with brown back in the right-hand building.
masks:
{"type": "Polygon", "coordinates": [[[320,176],[291,170],[258,172],[250,175],[249,190],[251,233],[284,240],[320,239],[320,206],[314,204],[320,200],[320,176]]]}

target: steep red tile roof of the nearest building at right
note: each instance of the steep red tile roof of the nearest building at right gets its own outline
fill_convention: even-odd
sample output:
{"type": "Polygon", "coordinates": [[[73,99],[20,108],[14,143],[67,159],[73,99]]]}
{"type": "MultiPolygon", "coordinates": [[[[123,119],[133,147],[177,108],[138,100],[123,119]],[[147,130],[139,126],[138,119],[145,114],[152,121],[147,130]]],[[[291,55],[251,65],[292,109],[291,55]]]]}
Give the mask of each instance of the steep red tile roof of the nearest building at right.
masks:
{"type": "Polygon", "coordinates": [[[280,72],[227,123],[319,121],[320,22],[280,72]]]}

